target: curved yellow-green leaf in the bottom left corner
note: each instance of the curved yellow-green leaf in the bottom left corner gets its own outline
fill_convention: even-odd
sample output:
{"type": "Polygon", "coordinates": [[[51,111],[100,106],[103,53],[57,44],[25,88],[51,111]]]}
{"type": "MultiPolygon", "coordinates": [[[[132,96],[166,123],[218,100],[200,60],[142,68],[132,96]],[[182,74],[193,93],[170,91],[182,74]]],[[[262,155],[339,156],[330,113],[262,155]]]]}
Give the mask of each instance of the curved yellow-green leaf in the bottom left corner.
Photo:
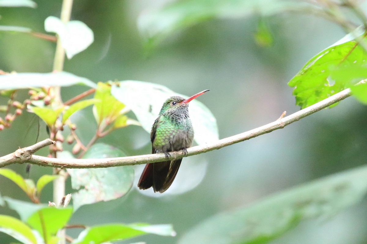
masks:
{"type": "Polygon", "coordinates": [[[0,232],[8,234],[24,244],[37,244],[32,230],[22,221],[11,216],[0,215],[0,232]]]}

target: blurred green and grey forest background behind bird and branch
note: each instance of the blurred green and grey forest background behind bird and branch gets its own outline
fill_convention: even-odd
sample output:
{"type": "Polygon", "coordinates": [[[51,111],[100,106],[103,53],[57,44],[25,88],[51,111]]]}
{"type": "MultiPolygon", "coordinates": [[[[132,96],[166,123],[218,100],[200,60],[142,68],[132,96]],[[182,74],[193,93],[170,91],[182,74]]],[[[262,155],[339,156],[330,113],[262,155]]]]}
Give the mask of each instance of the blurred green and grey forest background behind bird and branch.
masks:
{"type": "MultiPolygon", "coordinates": [[[[66,60],[64,69],[94,82],[142,80],[185,95],[211,89],[199,100],[217,118],[220,138],[270,123],[284,110],[288,115],[298,111],[287,82],[312,56],[345,35],[339,26],[312,15],[280,14],[265,18],[255,15],[200,23],[171,35],[147,52],[138,33],[137,18],[167,2],[75,1],[72,20],[86,23],[94,31],[95,41],[84,52],[66,60]],[[268,25],[272,45],[263,47],[255,40],[259,20],[268,25]]],[[[0,8],[0,25],[25,26],[44,33],[44,19],[59,16],[62,1],[36,0],[36,3],[35,9],[0,8]]],[[[0,69],[51,72],[54,50],[54,43],[1,32],[0,69]]],[[[86,89],[64,87],[63,100],[86,89]]],[[[1,104],[6,101],[0,98],[1,104]]],[[[177,232],[175,237],[147,235],[124,243],[177,243],[188,230],[216,213],[250,205],[293,186],[365,164],[366,117],[366,106],[348,98],[335,108],[324,109],[284,129],[185,158],[175,185],[159,197],[151,194],[152,189],[147,190],[149,194],[133,188],[122,198],[81,207],[70,223],[171,223],[177,232]]],[[[96,128],[91,108],[76,116],[75,121],[81,140],[88,142],[96,128]]],[[[0,155],[33,144],[38,123],[39,140],[47,138],[43,122],[30,113],[19,117],[10,129],[1,131],[0,155]]],[[[141,127],[129,126],[99,142],[118,147],[128,155],[139,155],[150,153],[149,140],[149,134],[141,127]]],[[[41,154],[47,155],[47,149],[41,154]]],[[[9,166],[23,176],[25,167],[9,166]]],[[[141,170],[137,167],[137,177],[141,170]]],[[[38,179],[51,172],[51,168],[32,166],[30,178],[38,179]]],[[[66,192],[73,191],[69,179],[66,192]]],[[[28,200],[4,177],[0,177],[0,192],[3,196],[28,200]]],[[[44,189],[41,200],[47,203],[50,199],[51,184],[44,189]]],[[[17,216],[4,208],[0,208],[0,214],[17,216]]],[[[302,222],[272,243],[367,243],[366,228],[365,199],[333,219],[302,222]]],[[[76,234],[70,232],[73,237],[76,234]]],[[[3,233],[0,240],[14,241],[3,233]]]]}

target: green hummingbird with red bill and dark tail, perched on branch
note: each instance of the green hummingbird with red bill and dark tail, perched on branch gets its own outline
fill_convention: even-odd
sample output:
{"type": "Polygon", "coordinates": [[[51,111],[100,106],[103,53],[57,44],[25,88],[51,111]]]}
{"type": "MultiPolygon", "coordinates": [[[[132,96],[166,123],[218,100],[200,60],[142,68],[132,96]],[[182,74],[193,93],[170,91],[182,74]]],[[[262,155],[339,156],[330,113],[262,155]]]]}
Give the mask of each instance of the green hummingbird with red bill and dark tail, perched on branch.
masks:
{"type": "MultiPolygon", "coordinates": [[[[164,153],[168,158],[171,151],[182,150],[182,153],[187,153],[186,149],[191,146],[194,139],[194,129],[189,117],[189,102],[207,91],[209,90],[201,91],[187,99],[179,96],[170,97],[163,103],[150,131],[152,154],[164,153]]],[[[146,164],[138,182],[139,189],[153,187],[154,192],[166,191],[175,179],[181,161],[182,158],[146,164]]]]}

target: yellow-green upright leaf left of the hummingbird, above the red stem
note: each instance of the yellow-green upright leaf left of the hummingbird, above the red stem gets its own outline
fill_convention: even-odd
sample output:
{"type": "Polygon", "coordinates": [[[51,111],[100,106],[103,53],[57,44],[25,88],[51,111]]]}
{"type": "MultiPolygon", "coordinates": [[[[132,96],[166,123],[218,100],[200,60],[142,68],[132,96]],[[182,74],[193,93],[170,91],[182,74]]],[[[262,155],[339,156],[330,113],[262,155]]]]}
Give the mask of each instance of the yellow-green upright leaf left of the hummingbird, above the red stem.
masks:
{"type": "Polygon", "coordinates": [[[93,107],[94,117],[98,124],[100,124],[103,119],[108,119],[109,123],[113,122],[120,116],[120,111],[125,108],[124,104],[117,101],[116,98],[111,95],[111,86],[103,82],[98,82],[94,98],[101,101],[93,107]]]}

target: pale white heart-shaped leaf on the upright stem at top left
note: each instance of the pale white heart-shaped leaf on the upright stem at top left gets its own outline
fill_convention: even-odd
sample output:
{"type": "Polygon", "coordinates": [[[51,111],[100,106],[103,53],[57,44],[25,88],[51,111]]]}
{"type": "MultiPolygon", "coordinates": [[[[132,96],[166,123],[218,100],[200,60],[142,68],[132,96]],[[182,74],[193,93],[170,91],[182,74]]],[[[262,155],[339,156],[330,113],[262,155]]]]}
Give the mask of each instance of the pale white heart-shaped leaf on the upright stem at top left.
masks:
{"type": "Polygon", "coordinates": [[[68,59],[87,49],[94,41],[93,31],[79,20],[63,23],[61,19],[49,16],[45,20],[45,30],[58,34],[68,59]]]}

